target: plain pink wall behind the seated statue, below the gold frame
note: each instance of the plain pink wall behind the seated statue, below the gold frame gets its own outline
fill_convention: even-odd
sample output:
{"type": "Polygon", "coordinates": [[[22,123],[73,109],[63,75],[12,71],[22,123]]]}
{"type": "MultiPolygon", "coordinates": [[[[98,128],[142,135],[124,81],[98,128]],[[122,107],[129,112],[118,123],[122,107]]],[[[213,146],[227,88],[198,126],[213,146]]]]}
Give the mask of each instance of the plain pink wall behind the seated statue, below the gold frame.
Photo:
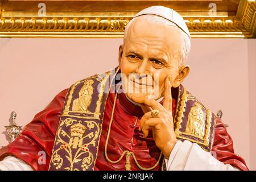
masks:
{"type": "MultiPolygon", "coordinates": [[[[7,144],[3,126],[9,124],[11,111],[18,114],[19,125],[26,125],[73,82],[117,66],[121,43],[122,39],[0,39],[0,146],[7,144]]],[[[187,62],[191,73],[184,85],[214,113],[223,111],[235,151],[256,169],[256,107],[251,100],[256,67],[251,46],[255,39],[192,39],[187,62]]]]}

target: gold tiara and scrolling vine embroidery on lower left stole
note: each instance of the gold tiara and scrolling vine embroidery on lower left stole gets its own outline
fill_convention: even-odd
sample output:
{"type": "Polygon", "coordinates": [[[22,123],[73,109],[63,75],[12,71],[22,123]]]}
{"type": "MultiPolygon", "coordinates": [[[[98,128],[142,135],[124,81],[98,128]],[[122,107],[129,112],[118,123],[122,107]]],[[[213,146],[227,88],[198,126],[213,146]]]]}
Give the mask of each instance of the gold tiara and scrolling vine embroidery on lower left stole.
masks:
{"type": "Polygon", "coordinates": [[[59,169],[63,166],[64,159],[61,158],[59,152],[65,152],[65,158],[67,158],[69,165],[64,167],[68,171],[79,171],[79,168],[74,168],[74,164],[82,160],[81,168],[86,170],[92,165],[94,157],[92,152],[90,152],[90,146],[95,146],[96,140],[99,137],[100,126],[95,121],[84,121],[84,125],[81,124],[81,121],[76,119],[67,118],[64,121],[60,121],[60,127],[57,131],[57,141],[56,144],[61,144],[60,148],[55,150],[52,154],[51,162],[56,169],[59,169]],[[73,123],[75,123],[73,125],[73,123]],[[63,129],[64,127],[70,128],[70,135],[66,133],[63,129]],[[71,127],[70,127],[71,126],[71,127]],[[85,127],[87,126],[87,127],[85,127]],[[91,129],[95,129],[92,130],[91,129]],[[85,135],[85,131],[89,131],[85,135]],[[86,139],[89,142],[85,142],[86,139]],[[69,142],[65,142],[69,140],[69,142]],[[75,149],[75,150],[74,150],[75,149]]]}

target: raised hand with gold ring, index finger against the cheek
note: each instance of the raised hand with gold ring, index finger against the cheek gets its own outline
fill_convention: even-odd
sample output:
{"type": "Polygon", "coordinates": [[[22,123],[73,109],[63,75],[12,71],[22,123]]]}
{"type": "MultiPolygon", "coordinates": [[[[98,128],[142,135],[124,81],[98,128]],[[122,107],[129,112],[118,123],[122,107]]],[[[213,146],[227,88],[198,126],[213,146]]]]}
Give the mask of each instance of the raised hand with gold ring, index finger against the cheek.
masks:
{"type": "Polygon", "coordinates": [[[152,127],[155,144],[168,159],[177,142],[172,117],[171,76],[166,78],[164,88],[163,105],[152,99],[144,99],[144,105],[152,110],[158,110],[159,113],[156,111],[158,114],[153,115],[154,117],[152,111],[145,113],[141,118],[139,130],[143,132],[143,137],[147,137],[148,130],[152,127]]]}

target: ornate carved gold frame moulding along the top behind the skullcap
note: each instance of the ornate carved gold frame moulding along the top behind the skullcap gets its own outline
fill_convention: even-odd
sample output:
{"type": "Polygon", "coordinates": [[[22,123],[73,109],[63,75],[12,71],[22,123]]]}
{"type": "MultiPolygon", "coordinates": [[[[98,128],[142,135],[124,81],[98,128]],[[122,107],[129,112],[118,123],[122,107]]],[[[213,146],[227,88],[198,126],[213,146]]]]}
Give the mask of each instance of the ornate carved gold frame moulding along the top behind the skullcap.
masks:
{"type": "Polygon", "coordinates": [[[180,13],[192,38],[256,36],[255,0],[0,0],[0,38],[122,38],[129,20],[153,5],[180,13]],[[45,3],[46,16],[38,15],[39,3],[45,3]],[[214,16],[209,3],[217,6],[214,16]]]}

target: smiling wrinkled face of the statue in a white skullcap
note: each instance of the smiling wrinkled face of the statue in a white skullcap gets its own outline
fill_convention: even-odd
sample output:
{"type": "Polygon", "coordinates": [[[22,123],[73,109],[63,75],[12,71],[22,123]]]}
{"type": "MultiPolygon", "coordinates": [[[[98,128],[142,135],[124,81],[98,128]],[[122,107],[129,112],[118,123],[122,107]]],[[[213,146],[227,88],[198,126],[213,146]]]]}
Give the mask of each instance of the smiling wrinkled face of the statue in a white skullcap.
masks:
{"type": "Polygon", "coordinates": [[[139,97],[163,96],[164,82],[170,77],[179,86],[181,30],[173,26],[152,24],[143,16],[130,25],[125,44],[119,48],[119,68],[125,93],[139,97]],[[132,88],[132,89],[131,89],[132,88]]]}

